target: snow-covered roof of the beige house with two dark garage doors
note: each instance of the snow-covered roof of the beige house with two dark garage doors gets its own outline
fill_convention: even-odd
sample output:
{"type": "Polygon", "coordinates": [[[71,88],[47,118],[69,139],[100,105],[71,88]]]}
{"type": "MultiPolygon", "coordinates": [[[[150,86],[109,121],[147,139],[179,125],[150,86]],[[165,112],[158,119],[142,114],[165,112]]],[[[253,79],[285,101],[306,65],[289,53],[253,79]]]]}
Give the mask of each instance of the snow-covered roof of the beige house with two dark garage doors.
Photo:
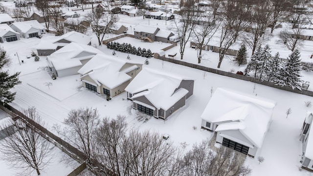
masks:
{"type": "MultiPolygon", "coordinates": [[[[89,62],[78,70],[78,73],[89,77],[98,85],[105,85],[108,88],[116,88],[117,86],[132,79],[127,73],[132,71],[138,66],[132,65],[121,70],[125,64],[134,64],[131,61],[123,61],[113,58],[106,54],[97,54],[89,62]],[[107,75],[107,76],[104,76],[107,75]]],[[[140,65],[141,64],[137,64],[140,65]]]]}

